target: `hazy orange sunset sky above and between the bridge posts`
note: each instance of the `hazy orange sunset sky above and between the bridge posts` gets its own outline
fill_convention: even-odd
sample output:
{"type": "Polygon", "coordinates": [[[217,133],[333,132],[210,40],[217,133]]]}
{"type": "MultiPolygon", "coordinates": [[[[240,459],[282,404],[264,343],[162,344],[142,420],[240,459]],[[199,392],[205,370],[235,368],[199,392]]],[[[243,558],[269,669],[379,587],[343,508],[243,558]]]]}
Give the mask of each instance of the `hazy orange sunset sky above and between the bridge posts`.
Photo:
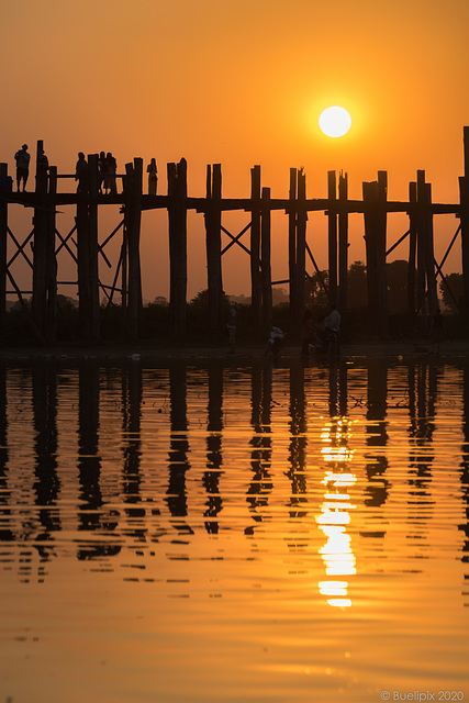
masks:
{"type": "MultiPolygon", "coordinates": [[[[59,174],[75,171],[79,150],[111,150],[119,171],[136,156],[155,157],[159,193],[166,164],[185,157],[196,197],[204,194],[206,165],[220,163],[225,197],[248,197],[250,168],[260,164],[273,198],[288,196],[290,167],[303,167],[310,198],[326,196],[328,170],[348,175],[351,198],[387,170],[389,199],[406,200],[424,169],[434,201],[458,201],[469,124],[467,0],[15,0],[0,15],[0,160],[12,175],[15,150],[26,142],[34,154],[43,140],[59,174]],[[332,104],[351,115],[340,138],[319,129],[332,104]]],[[[101,238],[118,220],[109,207],[101,238]]],[[[20,238],[30,222],[31,212],[12,211],[20,238]]],[[[71,212],[58,215],[64,232],[70,222],[71,212]]],[[[242,213],[223,224],[237,234],[247,222],[242,213]]],[[[312,215],[308,233],[324,267],[325,222],[312,215]]],[[[457,224],[435,222],[439,259],[457,224]]],[[[390,244],[405,231],[405,219],[389,217],[390,244]]],[[[284,214],[273,216],[273,279],[288,276],[287,232],[284,214]]],[[[189,215],[188,237],[190,298],[206,287],[202,215],[189,215]]],[[[168,294],[167,250],[166,214],[144,213],[146,299],[168,294]]],[[[365,256],[358,215],[349,256],[365,256]]],[[[405,247],[395,252],[405,256],[405,247]]],[[[451,256],[457,270],[459,254],[451,256]]],[[[246,254],[231,249],[227,293],[249,292],[248,269],[246,254]]]]}

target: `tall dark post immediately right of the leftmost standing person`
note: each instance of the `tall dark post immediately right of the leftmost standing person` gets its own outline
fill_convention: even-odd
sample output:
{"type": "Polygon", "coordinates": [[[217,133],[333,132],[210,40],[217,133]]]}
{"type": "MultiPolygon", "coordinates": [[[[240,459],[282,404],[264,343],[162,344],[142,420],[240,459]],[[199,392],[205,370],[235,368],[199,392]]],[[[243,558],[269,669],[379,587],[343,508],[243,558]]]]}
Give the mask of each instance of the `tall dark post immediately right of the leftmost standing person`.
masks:
{"type": "Polygon", "coordinates": [[[36,152],[36,207],[34,208],[33,243],[33,321],[41,335],[46,337],[46,263],[47,263],[47,171],[38,167],[43,142],[36,152]]]}

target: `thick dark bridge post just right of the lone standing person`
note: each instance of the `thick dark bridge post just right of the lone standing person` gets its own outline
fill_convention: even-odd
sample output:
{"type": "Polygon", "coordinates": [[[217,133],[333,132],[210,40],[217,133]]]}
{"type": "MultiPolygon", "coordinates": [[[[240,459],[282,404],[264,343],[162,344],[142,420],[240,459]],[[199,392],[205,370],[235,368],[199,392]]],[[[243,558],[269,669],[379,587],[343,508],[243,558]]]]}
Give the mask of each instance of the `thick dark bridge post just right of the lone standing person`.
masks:
{"type": "Polygon", "coordinates": [[[169,309],[176,337],[186,334],[187,316],[187,161],[168,164],[169,309]]]}

